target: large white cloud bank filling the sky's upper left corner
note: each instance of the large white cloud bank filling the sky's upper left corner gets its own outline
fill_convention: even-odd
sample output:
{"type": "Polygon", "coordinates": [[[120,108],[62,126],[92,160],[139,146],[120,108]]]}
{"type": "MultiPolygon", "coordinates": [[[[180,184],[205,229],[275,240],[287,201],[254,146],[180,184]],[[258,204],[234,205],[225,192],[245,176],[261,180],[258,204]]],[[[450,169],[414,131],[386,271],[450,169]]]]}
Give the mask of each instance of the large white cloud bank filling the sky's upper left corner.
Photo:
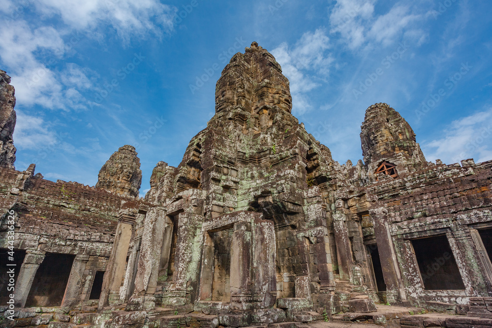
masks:
{"type": "Polygon", "coordinates": [[[176,13],[175,7],[158,0],[39,0],[34,5],[31,8],[29,1],[2,0],[0,12],[5,13],[0,18],[2,68],[12,77],[18,106],[40,105],[62,110],[87,108],[81,91],[92,86],[88,69],[73,63],[68,63],[62,71],[55,67],[73,43],[78,42],[80,33],[104,35],[100,28],[110,26],[123,43],[128,43],[133,36],[142,37],[149,32],[160,36],[172,31],[176,13]],[[40,16],[36,27],[21,18],[28,6],[40,16]],[[49,26],[51,23],[46,19],[58,17],[66,28],[55,30],[49,26]],[[67,38],[67,44],[63,38],[67,38]]]}

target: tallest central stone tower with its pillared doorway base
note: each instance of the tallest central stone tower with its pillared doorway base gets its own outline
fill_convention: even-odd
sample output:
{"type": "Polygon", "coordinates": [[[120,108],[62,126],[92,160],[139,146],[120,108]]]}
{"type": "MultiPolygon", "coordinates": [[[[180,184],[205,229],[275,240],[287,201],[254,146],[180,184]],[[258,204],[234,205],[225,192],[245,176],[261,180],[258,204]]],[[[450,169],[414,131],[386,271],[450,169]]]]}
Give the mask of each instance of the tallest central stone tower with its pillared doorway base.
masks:
{"type": "Polygon", "coordinates": [[[331,308],[334,238],[323,204],[333,202],[337,173],[291,109],[268,51],[253,42],[234,55],[207,128],[177,168],[159,162],[153,171],[128,309],[331,308]]]}

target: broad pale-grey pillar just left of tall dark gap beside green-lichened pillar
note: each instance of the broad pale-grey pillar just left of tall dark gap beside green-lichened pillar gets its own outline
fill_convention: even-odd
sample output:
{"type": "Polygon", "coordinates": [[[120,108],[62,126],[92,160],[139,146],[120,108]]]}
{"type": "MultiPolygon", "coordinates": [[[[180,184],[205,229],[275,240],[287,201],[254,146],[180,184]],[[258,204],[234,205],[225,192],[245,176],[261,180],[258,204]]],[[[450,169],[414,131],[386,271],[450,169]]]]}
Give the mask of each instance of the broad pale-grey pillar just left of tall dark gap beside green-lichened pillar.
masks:
{"type": "Polygon", "coordinates": [[[166,211],[162,207],[153,207],[145,215],[135,289],[128,301],[127,311],[155,308],[154,293],[159,274],[165,219],[166,211]]]}

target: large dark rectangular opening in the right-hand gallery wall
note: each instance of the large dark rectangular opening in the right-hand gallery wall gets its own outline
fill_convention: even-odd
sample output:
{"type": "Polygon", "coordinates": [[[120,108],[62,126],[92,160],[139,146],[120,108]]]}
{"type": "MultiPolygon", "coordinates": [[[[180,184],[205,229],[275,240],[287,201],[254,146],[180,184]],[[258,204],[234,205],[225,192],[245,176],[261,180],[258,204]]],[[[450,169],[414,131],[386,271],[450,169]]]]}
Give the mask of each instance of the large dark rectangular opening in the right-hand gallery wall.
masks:
{"type": "Polygon", "coordinates": [[[412,240],[424,288],[463,290],[464,284],[446,236],[412,240]]]}

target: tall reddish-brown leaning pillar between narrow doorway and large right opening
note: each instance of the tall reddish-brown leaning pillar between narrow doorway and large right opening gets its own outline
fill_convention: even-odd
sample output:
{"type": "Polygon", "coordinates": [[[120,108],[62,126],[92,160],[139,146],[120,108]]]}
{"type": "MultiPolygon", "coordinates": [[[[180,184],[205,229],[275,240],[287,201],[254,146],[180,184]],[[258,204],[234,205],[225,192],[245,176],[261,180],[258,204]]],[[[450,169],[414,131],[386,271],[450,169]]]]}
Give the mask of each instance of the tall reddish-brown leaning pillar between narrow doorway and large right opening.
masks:
{"type": "MultiPolygon", "coordinates": [[[[378,209],[379,210],[379,209],[378,209]]],[[[393,248],[393,241],[386,215],[381,213],[371,214],[374,218],[374,235],[381,260],[384,283],[386,284],[386,297],[388,302],[396,303],[399,300],[406,300],[403,283],[400,276],[397,257],[393,248]],[[400,299],[398,299],[400,298],[400,299]]]]}

